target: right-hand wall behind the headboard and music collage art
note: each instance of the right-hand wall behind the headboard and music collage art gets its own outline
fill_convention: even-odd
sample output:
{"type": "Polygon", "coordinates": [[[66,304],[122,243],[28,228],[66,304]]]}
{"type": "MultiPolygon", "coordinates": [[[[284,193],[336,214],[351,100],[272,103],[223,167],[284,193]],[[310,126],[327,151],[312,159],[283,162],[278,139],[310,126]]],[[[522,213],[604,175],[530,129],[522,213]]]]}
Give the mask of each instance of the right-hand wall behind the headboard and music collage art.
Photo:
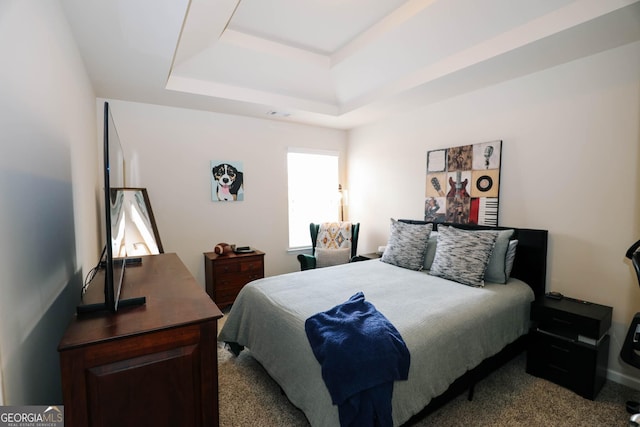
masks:
{"type": "MultiPolygon", "coordinates": [[[[549,230],[547,290],[613,306],[609,376],[640,287],[624,253],[640,239],[640,44],[425,106],[349,134],[361,252],[389,218],[421,218],[426,152],[503,140],[500,224],[549,230]]],[[[628,376],[628,377],[627,377],[628,376]]]]}

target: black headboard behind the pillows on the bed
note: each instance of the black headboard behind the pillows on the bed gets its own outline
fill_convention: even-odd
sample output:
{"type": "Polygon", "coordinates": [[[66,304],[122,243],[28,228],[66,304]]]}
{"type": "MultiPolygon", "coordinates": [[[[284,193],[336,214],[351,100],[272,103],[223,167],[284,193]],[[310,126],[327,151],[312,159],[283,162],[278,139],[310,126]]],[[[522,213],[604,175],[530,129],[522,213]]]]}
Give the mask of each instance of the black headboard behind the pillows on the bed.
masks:
{"type": "MultiPolygon", "coordinates": [[[[409,224],[427,224],[425,221],[413,219],[401,219],[399,221],[409,224]]],[[[544,295],[547,278],[547,230],[516,227],[490,227],[472,224],[433,223],[433,230],[437,231],[438,225],[447,225],[465,230],[510,230],[513,229],[512,239],[518,240],[516,258],[513,262],[511,276],[527,283],[536,295],[536,298],[544,295]]]]}

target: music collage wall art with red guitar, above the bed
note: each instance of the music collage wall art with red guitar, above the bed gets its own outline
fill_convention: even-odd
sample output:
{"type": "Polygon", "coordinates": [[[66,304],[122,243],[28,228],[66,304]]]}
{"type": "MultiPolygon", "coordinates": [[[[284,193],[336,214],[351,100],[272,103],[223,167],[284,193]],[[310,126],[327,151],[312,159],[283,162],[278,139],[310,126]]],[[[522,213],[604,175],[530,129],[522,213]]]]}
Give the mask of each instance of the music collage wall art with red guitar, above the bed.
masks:
{"type": "Polygon", "coordinates": [[[425,221],[498,225],[502,141],[427,152],[425,221]]]}

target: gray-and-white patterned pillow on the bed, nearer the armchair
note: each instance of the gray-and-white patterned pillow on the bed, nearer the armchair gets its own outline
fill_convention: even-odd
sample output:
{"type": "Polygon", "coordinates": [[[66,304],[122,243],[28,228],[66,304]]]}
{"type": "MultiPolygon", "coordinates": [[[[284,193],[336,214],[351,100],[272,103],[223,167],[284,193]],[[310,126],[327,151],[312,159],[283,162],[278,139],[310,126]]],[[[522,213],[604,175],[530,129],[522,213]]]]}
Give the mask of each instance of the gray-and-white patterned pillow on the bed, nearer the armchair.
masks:
{"type": "Polygon", "coordinates": [[[407,224],[391,218],[391,235],[380,261],[410,270],[422,270],[433,224],[407,224]]]}

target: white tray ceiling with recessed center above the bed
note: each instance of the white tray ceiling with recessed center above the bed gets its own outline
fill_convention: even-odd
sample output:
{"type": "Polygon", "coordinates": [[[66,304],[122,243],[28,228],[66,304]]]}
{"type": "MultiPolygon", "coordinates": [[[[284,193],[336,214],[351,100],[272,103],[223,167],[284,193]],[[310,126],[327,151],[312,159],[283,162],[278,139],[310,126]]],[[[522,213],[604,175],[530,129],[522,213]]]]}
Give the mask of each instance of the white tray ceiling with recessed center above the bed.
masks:
{"type": "Polygon", "coordinates": [[[61,0],[99,97],[342,129],[640,40],[640,0],[61,0]]]}

